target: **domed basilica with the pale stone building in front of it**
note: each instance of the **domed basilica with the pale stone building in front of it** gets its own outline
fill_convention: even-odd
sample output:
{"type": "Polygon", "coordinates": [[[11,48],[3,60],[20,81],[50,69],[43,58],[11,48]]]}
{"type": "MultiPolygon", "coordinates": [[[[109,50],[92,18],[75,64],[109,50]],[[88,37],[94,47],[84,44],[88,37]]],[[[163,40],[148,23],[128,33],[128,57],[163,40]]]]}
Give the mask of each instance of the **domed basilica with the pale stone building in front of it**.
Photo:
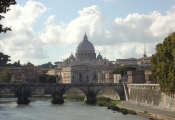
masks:
{"type": "Polygon", "coordinates": [[[62,69],[62,83],[97,83],[98,73],[109,71],[112,66],[100,53],[96,57],[95,48],[85,34],[75,56],[71,53],[69,58],[59,63],[58,68],[62,69]]]}

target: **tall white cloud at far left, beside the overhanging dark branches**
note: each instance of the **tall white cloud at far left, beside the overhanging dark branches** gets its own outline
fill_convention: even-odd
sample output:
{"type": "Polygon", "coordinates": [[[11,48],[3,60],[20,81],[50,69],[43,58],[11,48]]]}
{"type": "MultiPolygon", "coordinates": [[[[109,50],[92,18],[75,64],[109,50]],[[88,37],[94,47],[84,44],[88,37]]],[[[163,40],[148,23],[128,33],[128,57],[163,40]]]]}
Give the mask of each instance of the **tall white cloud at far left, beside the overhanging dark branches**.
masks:
{"type": "Polygon", "coordinates": [[[46,11],[46,7],[39,2],[28,1],[25,6],[19,4],[11,6],[11,10],[2,20],[4,26],[11,26],[12,32],[0,34],[1,51],[11,56],[11,59],[42,59],[47,58],[40,46],[33,24],[46,11]]]}

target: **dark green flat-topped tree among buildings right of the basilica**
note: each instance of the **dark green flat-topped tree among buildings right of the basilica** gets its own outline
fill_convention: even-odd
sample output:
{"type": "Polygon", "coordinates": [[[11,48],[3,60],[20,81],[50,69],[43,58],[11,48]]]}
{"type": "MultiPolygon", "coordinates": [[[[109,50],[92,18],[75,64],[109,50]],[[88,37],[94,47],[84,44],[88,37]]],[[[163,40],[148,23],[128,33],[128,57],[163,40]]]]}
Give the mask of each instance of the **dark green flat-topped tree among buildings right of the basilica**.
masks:
{"type": "Polygon", "coordinates": [[[121,66],[113,70],[113,74],[121,74],[121,76],[127,75],[128,70],[136,70],[135,67],[121,66]]]}

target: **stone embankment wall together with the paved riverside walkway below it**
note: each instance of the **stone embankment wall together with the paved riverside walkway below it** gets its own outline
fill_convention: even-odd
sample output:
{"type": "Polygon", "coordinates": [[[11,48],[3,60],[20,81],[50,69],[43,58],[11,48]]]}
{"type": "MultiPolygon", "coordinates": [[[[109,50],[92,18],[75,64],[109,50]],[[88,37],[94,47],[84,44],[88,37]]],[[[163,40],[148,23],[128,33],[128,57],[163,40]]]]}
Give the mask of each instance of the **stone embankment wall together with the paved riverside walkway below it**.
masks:
{"type": "Polygon", "coordinates": [[[124,89],[127,101],[118,107],[152,120],[175,120],[175,98],[162,93],[158,84],[127,84],[124,89]]]}

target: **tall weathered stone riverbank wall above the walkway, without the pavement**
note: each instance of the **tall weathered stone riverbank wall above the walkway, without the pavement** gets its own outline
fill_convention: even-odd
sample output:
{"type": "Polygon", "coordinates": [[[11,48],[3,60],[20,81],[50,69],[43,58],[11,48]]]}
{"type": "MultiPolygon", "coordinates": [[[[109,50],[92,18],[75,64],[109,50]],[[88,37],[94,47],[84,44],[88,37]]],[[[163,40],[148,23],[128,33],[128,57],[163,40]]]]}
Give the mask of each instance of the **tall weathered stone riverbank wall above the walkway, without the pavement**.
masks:
{"type": "Polygon", "coordinates": [[[160,91],[158,84],[127,84],[128,101],[175,109],[175,98],[160,91]]]}

